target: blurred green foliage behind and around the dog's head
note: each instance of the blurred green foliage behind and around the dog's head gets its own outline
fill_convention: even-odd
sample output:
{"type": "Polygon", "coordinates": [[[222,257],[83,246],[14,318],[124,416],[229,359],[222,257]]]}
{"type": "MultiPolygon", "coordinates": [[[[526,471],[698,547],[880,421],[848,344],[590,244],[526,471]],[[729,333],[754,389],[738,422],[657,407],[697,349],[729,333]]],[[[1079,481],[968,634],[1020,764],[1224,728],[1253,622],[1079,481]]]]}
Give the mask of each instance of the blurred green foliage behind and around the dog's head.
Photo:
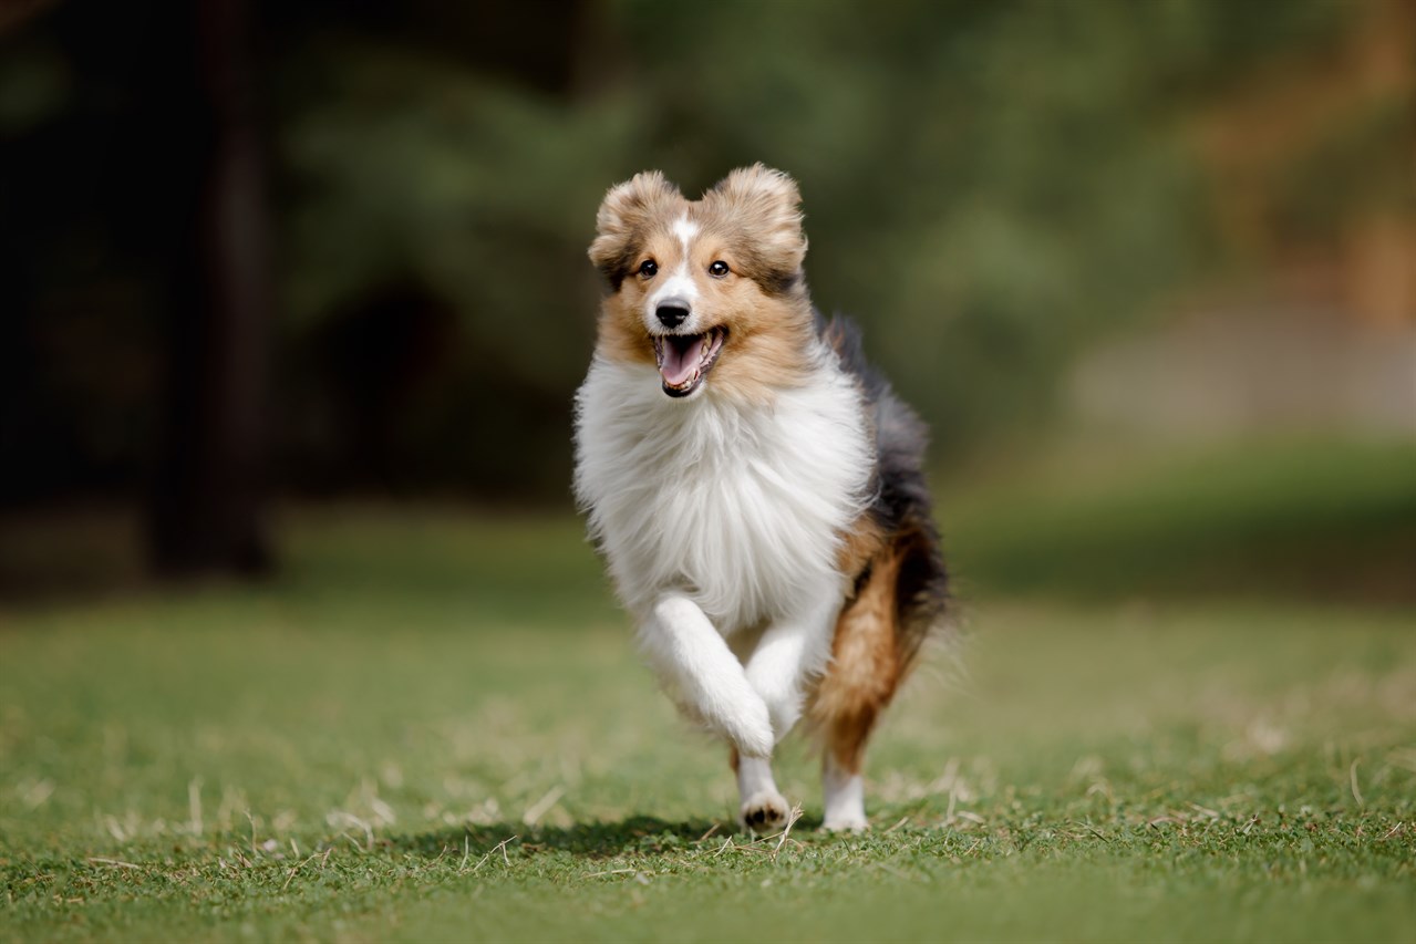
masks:
{"type": "MultiPolygon", "coordinates": [[[[762,160],[801,183],[817,303],[865,323],[936,439],[966,442],[1044,415],[1079,344],[1216,263],[1182,119],[1264,57],[1331,40],[1351,10],[624,0],[599,13],[564,96],[367,34],[302,50],[282,85],[320,92],[282,120],[300,184],[285,231],[293,333],[413,279],[456,309],[469,351],[568,399],[589,355],[582,252],[603,191],[660,167],[694,195],[762,160]]],[[[457,422],[428,425],[426,447],[457,422]]]]}

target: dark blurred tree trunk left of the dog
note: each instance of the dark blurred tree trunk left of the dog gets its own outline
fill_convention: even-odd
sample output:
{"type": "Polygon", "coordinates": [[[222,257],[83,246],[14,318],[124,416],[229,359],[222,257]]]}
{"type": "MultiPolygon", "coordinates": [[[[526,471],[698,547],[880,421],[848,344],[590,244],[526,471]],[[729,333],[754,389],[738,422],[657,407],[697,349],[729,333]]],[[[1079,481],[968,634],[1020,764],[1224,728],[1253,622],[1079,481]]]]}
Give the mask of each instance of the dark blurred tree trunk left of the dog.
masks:
{"type": "Polygon", "coordinates": [[[272,283],[246,0],[169,7],[170,82],[140,129],[170,166],[164,436],[150,505],[154,566],[169,575],[259,573],[272,283]],[[169,125],[167,122],[171,122],[169,125]]]}

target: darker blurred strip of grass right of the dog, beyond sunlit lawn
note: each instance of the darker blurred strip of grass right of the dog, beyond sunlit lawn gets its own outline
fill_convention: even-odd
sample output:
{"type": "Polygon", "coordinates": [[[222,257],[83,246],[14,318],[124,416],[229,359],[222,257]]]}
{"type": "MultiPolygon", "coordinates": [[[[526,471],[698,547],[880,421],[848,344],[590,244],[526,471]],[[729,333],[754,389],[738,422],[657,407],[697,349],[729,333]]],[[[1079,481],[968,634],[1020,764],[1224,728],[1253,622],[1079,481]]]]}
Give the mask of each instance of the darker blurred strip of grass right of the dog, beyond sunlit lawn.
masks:
{"type": "Polygon", "coordinates": [[[1037,463],[944,491],[963,577],[988,594],[1416,603],[1416,447],[1086,449],[1037,463]]]}

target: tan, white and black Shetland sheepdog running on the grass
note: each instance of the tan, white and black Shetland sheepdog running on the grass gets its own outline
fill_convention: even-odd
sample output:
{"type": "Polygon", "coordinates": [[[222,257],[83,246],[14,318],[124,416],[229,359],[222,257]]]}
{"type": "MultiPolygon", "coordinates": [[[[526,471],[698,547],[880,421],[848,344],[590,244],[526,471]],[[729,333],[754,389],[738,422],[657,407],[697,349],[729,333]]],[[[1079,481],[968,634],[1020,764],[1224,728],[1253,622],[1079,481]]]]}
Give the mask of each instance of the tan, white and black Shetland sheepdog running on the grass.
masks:
{"type": "Polygon", "coordinates": [[[739,824],[789,825],[772,752],[803,722],[824,828],[864,829],[865,742],[944,613],[923,423],[811,307],[786,174],[739,168],[690,201],[643,173],[596,224],[590,536],[664,688],[731,744],[739,824]]]}

